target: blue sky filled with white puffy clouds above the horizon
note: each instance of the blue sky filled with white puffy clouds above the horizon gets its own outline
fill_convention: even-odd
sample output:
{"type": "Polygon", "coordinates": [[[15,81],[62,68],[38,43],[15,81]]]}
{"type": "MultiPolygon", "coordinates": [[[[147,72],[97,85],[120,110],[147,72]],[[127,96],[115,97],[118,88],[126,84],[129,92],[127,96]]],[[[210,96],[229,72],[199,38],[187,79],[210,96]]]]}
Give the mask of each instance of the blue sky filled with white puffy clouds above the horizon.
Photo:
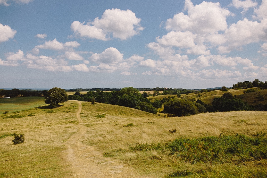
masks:
{"type": "Polygon", "coordinates": [[[267,80],[267,0],[0,0],[0,88],[267,80]]]}

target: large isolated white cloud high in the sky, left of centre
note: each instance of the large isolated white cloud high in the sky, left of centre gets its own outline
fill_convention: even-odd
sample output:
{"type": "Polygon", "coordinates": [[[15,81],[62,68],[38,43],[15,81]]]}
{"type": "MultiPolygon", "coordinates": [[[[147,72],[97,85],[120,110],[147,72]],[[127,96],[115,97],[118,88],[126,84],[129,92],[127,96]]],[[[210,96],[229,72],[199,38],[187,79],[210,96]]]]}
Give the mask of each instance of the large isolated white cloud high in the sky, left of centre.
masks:
{"type": "Polygon", "coordinates": [[[100,19],[97,17],[87,24],[74,21],[70,28],[80,37],[107,41],[112,35],[113,38],[126,40],[144,29],[140,21],[131,10],[107,9],[100,19]]]}

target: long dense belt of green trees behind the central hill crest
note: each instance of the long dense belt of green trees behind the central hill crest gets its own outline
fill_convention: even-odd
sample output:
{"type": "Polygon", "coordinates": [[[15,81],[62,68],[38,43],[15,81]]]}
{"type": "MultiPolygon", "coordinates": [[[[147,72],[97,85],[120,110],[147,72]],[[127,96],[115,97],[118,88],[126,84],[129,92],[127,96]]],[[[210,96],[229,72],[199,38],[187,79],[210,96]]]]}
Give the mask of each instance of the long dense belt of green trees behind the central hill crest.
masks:
{"type": "Polygon", "coordinates": [[[120,91],[112,92],[104,92],[96,89],[96,91],[88,91],[87,94],[84,95],[76,92],[74,95],[69,95],[68,99],[87,102],[92,102],[94,99],[95,102],[131,107],[153,114],[157,113],[156,107],[160,106],[158,101],[156,101],[156,103],[150,102],[144,95],[141,95],[138,89],[133,87],[126,87],[122,88],[120,91]]]}

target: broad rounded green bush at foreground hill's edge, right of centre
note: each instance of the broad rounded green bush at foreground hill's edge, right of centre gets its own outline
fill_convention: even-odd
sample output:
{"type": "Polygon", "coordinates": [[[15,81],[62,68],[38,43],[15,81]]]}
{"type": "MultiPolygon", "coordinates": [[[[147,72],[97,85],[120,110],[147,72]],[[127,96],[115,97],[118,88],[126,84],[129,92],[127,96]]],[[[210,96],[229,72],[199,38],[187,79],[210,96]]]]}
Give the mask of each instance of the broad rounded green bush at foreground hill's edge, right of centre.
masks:
{"type": "Polygon", "coordinates": [[[165,102],[164,109],[162,113],[167,113],[168,116],[188,116],[197,114],[197,107],[194,102],[187,101],[184,99],[171,99],[170,101],[165,102]]]}

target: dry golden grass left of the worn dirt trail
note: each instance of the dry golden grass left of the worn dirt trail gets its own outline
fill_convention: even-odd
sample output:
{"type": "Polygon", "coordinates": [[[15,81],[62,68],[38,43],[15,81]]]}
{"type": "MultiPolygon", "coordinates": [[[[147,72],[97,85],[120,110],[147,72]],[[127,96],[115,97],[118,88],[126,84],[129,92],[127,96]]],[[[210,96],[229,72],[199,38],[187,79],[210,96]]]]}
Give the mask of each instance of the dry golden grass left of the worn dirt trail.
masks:
{"type": "Polygon", "coordinates": [[[70,169],[61,152],[64,141],[77,131],[76,110],[77,104],[68,102],[57,109],[0,115],[0,136],[9,135],[0,140],[0,177],[68,177],[70,169]],[[24,134],[25,142],[13,145],[13,133],[24,134]]]}

